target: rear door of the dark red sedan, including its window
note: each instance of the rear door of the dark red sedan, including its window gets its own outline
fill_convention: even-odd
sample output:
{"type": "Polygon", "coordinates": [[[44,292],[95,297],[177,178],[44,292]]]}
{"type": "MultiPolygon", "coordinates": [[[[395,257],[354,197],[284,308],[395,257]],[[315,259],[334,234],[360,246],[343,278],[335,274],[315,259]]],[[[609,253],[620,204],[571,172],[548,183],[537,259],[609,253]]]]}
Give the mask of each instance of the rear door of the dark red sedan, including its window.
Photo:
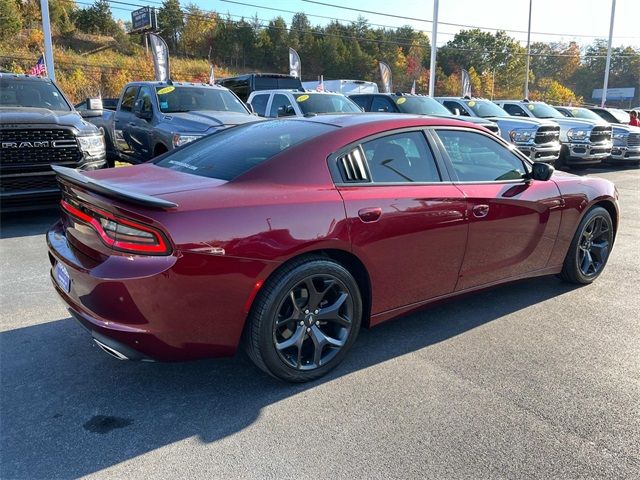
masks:
{"type": "Polygon", "coordinates": [[[467,241],[466,201],[424,132],[365,139],[331,162],[353,250],[371,277],[372,314],[453,292],[467,241]]]}

